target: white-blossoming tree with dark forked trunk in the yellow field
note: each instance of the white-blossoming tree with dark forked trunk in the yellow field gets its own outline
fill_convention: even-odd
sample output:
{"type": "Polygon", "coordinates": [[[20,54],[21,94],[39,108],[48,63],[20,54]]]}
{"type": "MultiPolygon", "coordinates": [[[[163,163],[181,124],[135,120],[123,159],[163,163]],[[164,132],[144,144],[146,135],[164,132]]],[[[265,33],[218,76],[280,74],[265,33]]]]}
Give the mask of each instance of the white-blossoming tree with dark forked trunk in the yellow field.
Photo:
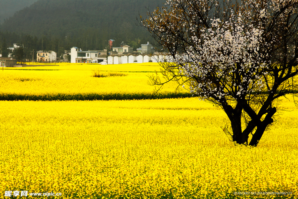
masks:
{"type": "Polygon", "coordinates": [[[298,0],[168,0],[141,26],[169,57],[151,84],[177,81],[221,107],[238,144],[257,146],[281,108],[296,96],[298,0]],[[250,141],[250,142],[249,142],[250,141]]]}

